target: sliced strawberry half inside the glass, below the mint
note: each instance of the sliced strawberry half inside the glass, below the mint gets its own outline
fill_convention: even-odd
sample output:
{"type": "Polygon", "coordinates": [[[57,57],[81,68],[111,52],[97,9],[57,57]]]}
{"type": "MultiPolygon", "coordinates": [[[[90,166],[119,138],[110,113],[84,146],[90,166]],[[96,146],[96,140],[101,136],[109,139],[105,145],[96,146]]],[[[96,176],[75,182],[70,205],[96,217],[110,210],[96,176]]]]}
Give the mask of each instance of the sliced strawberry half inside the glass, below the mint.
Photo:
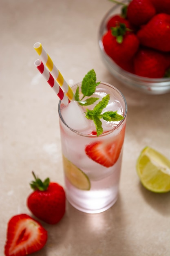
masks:
{"type": "Polygon", "coordinates": [[[113,166],[119,158],[124,143],[124,132],[125,127],[113,141],[95,141],[86,145],[86,155],[105,167],[113,166]]]}

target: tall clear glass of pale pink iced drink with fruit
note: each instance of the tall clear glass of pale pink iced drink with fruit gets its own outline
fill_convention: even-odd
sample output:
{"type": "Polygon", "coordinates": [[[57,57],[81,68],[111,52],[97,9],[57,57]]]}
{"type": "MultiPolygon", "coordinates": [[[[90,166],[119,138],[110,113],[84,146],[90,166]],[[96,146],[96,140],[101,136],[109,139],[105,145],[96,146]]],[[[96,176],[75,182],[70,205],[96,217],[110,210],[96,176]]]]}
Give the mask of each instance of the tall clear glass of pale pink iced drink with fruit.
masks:
{"type": "MultiPolygon", "coordinates": [[[[77,85],[81,83],[73,85],[73,92],[77,85]]],[[[112,85],[99,83],[93,97],[99,99],[90,106],[79,106],[77,101],[64,106],[60,101],[58,108],[66,197],[87,213],[105,211],[118,198],[127,114],[124,96],[112,85]],[[97,136],[94,122],[84,112],[107,94],[110,99],[102,113],[117,111],[124,119],[102,120],[103,133],[97,136]]]]}

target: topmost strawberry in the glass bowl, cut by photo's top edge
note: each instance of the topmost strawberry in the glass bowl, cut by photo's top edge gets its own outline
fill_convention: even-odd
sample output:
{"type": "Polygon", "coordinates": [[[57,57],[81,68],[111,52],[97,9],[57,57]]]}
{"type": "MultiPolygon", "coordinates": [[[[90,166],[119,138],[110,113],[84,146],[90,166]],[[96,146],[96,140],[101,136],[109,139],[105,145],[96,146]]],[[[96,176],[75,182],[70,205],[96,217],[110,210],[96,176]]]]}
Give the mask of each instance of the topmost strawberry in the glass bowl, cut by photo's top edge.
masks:
{"type": "Polygon", "coordinates": [[[150,0],[132,0],[127,8],[127,18],[132,25],[141,26],[156,14],[150,0]]]}

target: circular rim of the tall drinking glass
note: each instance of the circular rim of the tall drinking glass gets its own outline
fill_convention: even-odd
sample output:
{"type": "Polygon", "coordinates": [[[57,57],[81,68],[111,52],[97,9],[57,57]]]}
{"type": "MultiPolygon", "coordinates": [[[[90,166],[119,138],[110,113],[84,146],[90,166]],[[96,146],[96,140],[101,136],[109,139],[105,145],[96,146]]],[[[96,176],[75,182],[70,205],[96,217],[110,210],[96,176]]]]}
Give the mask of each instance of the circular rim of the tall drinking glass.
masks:
{"type": "MultiPolygon", "coordinates": [[[[98,82],[98,81],[96,81],[98,82]]],[[[78,82],[78,83],[75,83],[71,86],[71,88],[75,85],[80,85],[82,82],[78,82]]],[[[71,128],[70,126],[68,126],[68,124],[66,124],[66,122],[64,121],[63,117],[62,117],[62,114],[61,114],[61,111],[60,111],[60,106],[61,106],[61,103],[62,101],[60,100],[59,103],[58,103],[58,113],[59,113],[59,117],[62,121],[62,123],[69,129],[71,130],[72,132],[75,132],[77,135],[80,135],[80,136],[83,136],[83,137],[102,137],[102,136],[106,136],[110,133],[112,133],[114,130],[117,130],[117,128],[119,128],[121,126],[121,124],[124,123],[124,121],[126,120],[126,115],[127,115],[127,112],[128,112],[128,106],[127,106],[127,102],[126,102],[126,99],[124,97],[124,94],[122,94],[122,92],[120,92],[114,85],[111,85],[110,83],[106,83],[106,82],[103,82],[103,81],[100,81],[100,84],[104,84],[104,85],[107,85],[109,87],[111,87],[112,89],[114,89],[115,91],[117,91],[117,93],[122,97],[122,99],[124,100],[124,103],[125,103],[125,111],[124,111],[124,119],[122,119],[119,124],[117,124],[116,127],[113,127],[111,130],[109,130],[108,132],[104,132],[102,133],[101,135],[97,136],[97,135],[91,135],[91,134],[85,134],[85,133],[82,133],[82,132],[78,132],[76,130],[74,130],[73,128],[71,128]]],[[[99,86],[99,85],[98,85],[99,86]]],[[[68,103],[69,104],[69,103],[68,103]]]]}

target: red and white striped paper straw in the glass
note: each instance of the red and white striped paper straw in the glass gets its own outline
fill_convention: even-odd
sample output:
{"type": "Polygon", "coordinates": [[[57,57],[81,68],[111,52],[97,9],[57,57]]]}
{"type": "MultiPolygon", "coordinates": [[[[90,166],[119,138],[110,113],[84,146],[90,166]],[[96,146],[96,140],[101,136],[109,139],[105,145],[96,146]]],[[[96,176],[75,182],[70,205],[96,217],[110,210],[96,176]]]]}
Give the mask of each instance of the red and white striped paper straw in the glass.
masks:
{"type": "Polygon", "coordinates": [[[42,61],[40,60],[36,60],[34,62],[35,67],[37,67],[37,69],[40,71],[40,73],[42,74],[42,76],[46,79],[46,81],[49,83],[49,85],[51,86],[51,88],[53,88],[53,90],[55,91],[55,93],[57,94],[57,96],[60,98],[60,100],[62,101],[62,103],[64,105],[67,105],[70,100],[68,99],[68,97],[66,96],[66,94],[63,92],[63,90],[60,88],[60,86],[58,85],[57,81],[53,78],[53,76],[50,74],[50,72],[47,70],[47,68],[44,66],[44,64],[42,63],[42,61]]]}

